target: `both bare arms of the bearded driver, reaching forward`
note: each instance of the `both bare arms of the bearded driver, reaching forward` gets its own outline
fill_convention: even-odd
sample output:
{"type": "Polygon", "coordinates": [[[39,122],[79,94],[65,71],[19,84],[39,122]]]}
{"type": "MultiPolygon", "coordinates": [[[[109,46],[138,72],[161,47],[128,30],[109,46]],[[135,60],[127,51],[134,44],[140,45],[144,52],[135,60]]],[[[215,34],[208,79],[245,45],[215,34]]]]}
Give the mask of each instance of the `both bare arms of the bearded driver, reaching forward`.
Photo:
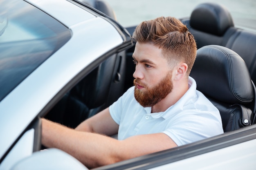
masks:
{"type": "MultiPolygon", "coordinates": [[[[106,118],[108,123],[115,122],[111,118],[108,109],[105,110],[105,114],[103,111],[98,117],[106,118]]],[[[54,147],[64,150],[88,168],[103,166],[177,146],[164,133],[137,135],[119,141],[105,136],[116,131],[116,128],[118,128],[116,123],[113,125],[105,124],[103,119],[102,124],[90,125],[97,120],[97,117],[90,118],[87,123],[81,123],[76,128],[77,130],[74,130],[42,119],[42,144],[49,148],[54,147]],[[110,126],[111,133],[107,132],[107,126],[110,126]],[[97,133],[91,133],[91,131],[97,133]]]]}

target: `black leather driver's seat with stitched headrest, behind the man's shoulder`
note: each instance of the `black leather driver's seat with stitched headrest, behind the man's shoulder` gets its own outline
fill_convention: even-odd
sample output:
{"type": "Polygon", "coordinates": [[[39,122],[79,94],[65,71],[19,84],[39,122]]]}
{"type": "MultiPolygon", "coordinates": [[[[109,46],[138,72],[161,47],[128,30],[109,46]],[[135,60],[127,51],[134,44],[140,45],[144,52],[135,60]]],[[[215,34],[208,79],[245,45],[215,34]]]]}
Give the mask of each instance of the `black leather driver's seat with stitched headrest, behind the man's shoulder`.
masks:
{"type": "Polygon", "coordinates": [[[252,124],[255,86],[237,53],[223,46],[204,46],[198,49],[190,76],[220,110],[225,132],[252,124]]]}

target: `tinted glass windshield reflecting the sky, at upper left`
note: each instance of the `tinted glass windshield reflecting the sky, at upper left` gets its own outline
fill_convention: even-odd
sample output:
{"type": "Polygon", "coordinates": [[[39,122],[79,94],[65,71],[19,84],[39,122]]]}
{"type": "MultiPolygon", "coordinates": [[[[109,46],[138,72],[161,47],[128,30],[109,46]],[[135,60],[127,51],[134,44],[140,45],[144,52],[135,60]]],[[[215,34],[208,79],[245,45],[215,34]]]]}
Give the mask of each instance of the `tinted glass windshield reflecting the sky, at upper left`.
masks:
{"type": "Polygon", "coordinates": [[[0,101],[63,46],[69,29],[22,0],[0,1],[0,101]]]}

